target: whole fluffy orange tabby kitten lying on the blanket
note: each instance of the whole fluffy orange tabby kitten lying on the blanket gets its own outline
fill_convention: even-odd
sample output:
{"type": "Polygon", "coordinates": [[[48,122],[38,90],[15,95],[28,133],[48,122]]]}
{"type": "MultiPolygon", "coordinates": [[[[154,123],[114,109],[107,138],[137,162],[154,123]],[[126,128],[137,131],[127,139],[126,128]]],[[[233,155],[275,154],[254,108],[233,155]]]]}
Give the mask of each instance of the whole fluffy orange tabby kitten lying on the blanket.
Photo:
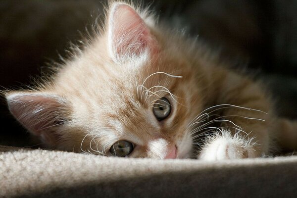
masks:
{"type": "Polygon", "coordinates": [[[297,124],[277,118],[263,88],[225,66],[148,10],[112,1],[84,49],[38,87],[5,97],[49,148],[205,160],[297,148],[297,124]]]}

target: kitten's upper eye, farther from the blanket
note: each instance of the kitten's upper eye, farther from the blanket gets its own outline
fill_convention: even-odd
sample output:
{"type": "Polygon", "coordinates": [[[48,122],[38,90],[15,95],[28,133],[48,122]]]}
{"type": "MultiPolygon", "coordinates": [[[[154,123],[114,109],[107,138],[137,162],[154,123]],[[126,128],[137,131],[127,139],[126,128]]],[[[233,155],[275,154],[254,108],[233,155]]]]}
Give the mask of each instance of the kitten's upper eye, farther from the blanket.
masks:
{"type": "Polygon", "coordinates": [[[158,99],[156,103],[153,104],[152,112],[159,121],[168,117],[171,112],[169,100],[165,97],[158,99]]]}

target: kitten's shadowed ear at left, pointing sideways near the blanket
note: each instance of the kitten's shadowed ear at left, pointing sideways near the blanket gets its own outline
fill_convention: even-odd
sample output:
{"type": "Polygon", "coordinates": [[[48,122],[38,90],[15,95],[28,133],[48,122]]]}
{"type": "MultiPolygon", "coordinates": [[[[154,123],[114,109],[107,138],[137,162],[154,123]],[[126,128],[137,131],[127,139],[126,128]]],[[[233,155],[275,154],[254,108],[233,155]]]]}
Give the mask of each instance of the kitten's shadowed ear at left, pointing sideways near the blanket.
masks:
{"type": "Polygon", "coordinates": [[[54,127],[65,122],[65,99],[43,93],[10,93],[6,100],[12,115],[31,133],[49,145],[57,142],[60,137],[54,127]]]}

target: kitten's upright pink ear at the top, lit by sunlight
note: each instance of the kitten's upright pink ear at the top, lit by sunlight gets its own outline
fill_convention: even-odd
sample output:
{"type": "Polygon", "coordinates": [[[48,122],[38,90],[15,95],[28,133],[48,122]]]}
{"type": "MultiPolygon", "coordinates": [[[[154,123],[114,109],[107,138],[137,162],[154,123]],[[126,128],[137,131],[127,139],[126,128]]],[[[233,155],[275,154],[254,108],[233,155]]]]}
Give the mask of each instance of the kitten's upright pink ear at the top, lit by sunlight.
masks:
{"type": "Polygon", "coordinates": [[[111,7],[107,29],[109,53],[117,62],[158,50],[145,21],[127,4],[116,3],[111,7]]]}

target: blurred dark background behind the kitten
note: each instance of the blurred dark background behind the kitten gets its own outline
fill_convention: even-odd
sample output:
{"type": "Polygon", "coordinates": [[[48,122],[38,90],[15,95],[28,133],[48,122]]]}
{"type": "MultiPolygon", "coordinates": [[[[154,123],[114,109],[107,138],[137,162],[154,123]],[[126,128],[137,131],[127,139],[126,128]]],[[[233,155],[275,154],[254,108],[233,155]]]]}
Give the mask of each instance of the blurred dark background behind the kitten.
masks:
{"type": "MultiPolygon", "coordinates": [[[[106,0],[0,0],[0,89],[30,85],[103,16],[106,0]],[[99,17],[97,17],[99,16],[99,17]]],[[[137,1],[136,1],[137,2],[137,1]]],[[[297,0],[143,0],[161,20],[257,73],[281,116],[297,118],[297,0]]],[[[0,144],[31,146],[0,104],[0,144]]]]}

